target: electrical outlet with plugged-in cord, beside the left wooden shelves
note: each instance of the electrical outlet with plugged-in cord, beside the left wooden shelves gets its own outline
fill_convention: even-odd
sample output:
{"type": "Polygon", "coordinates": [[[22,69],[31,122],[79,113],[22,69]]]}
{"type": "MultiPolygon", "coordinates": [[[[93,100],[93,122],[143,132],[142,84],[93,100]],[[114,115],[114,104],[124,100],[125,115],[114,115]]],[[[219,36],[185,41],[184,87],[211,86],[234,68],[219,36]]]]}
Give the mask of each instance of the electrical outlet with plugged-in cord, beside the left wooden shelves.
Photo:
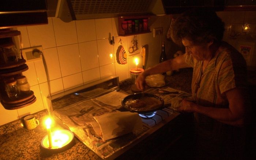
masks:
{"type": "Polygon", "coordinates": [[[36,61],[36,60],[41,60],[42,56],[39,54],[34,54],[33,55],[33,50],[34,49],[39,49],[40,51],[43,51],[42,46],[36,46],[36,47],[30,47],[30,48],[24,48],[22,49],[22,55],[24,59],[29,62],[29,61],[36,61]]]}

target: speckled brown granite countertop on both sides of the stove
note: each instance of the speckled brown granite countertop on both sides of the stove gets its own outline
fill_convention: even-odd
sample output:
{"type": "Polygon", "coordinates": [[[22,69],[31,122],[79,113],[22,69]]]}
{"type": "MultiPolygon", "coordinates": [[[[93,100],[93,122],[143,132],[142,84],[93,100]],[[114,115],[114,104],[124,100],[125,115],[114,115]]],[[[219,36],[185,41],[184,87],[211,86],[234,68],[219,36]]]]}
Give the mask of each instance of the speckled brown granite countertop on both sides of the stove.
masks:
{"type": "MultiPolygon", "coordinates": [[[[192,69],[181,69],[172,76],[165,76],[166,85],[178,90],[191,93],[192,69]]],[[[120,89],[132,93],[130,85],[120,83],[120,89]]],[[[22,127],[21,120],[16,120],[0,126],[0,159],[1,160],[99,160],[90,149],[78,139],[74,139],[71,148],[61,153],[44,152],[40,148],[41,140],[47,135],[46,128],[42,121],[48,116],[47,110],[34,114],[40,124],[33,130],[22,127]]],[[[54,124],[53,128],[61,128],[54,124]]]]}

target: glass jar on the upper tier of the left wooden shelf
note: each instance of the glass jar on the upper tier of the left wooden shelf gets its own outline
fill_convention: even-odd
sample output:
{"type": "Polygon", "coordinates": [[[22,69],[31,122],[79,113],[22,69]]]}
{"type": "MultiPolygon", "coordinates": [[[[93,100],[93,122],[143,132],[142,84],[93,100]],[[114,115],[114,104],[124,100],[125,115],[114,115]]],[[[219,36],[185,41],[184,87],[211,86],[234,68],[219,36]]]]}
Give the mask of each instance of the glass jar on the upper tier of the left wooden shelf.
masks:
{"type": "Polygon", "coordinates": [[[1,45],[1,54],[4,54],[5,64],[16,63],[19,59],[19,53],[14,43],[1,45]]]}

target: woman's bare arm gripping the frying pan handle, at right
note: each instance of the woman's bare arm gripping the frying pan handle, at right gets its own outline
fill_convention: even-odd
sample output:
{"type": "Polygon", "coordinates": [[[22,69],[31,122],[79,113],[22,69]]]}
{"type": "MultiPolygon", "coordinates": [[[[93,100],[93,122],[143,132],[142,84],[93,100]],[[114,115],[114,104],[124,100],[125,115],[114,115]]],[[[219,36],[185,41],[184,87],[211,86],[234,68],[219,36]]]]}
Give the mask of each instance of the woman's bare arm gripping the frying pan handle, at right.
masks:
{"type": "Polygon", "coordinates": [[[181,107],[177,108],[181,112],[197,112],[209,116],[222,123],[244,126],[246,116],[250,109],[250,100],[244,89],[233,88],[225,92],[229,101],[229,108],[214,108],[197,105],[193,102],[183,100],[181,107]]]}

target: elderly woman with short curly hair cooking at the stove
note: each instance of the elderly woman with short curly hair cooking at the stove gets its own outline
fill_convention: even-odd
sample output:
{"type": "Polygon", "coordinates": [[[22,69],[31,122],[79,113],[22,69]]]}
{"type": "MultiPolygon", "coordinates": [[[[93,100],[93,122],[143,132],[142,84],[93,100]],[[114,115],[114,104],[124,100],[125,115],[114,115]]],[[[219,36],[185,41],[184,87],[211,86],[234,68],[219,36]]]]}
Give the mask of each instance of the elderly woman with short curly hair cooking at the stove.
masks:
{"type": "Polygon", "coordinates": [[[171,35],[175,43],[184,45],[186,53],[145,70],[136,79],[136,87],[143,90],[148,75],[193,67],[193,102],[182,100],[178,111],[194,113],[196,140],[207,159],[241,157],[250,106],[246,62],[240,52],[222,41],[223,32],[224,23],[215,12],[183,13],[171,26],[171,35]]]}

